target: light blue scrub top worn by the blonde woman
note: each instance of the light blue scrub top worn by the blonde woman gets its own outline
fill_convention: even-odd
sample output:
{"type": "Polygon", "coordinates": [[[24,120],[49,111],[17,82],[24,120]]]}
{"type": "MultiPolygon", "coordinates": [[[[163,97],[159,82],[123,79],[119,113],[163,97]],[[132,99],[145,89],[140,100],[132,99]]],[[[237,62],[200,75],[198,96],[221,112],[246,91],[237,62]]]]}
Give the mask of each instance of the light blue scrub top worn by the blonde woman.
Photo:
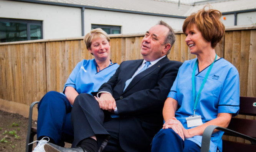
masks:
{"type": "Polygon", "coordinates": [[[97,73],[95,59],[82,60],[69,75],[63,93],[67,86],[76,89],[78,94],[96,92],[104,82],[107,82],[114,75],[118,67],[119,65],[114,63],[97,73]]]}

